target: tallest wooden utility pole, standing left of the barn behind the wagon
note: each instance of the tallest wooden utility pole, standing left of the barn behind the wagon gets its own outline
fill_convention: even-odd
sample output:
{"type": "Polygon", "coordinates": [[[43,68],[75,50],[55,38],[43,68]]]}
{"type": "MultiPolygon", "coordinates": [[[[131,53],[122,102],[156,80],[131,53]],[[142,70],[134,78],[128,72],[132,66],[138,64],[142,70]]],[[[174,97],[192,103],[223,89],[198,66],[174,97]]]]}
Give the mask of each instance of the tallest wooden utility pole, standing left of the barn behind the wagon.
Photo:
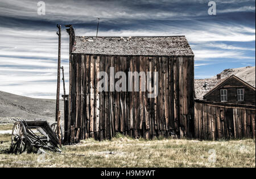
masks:
{"type": "Polygon", "coordinates": [[[56,117],[55,120],[57,122],[59,117],[59,106],[60,106],[60,42],[61,42],[61,25],[57,24],[57,28],[59,28],[59,32],[57,35],[59,36],[59,52],[58,52],[58,70],[57,70],[57,94],[56,94],[56,117]]]}

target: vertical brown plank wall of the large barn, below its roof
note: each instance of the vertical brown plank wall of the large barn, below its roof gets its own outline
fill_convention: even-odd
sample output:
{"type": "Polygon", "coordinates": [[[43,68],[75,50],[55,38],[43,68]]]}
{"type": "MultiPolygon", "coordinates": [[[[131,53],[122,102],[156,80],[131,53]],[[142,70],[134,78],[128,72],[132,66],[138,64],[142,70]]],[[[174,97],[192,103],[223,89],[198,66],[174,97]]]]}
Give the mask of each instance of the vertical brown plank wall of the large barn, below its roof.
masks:
{"type": "MultiPolygon", "coordinates": [[[[194,135],[193,56],[120,56],[71,53],[67,140],[194,135]],[[158,95],[149,91],[99,91],[98,72],[158,72],[158,95]]],[[[145,73],[146,76],[148,73],[145,73]]],[[[116,83],[115,79],[112,83],[116,83]]],[[[154,80],[154,79],[151,79],[154,80]]],[[[128,88],[128,80],[126,80],[128,88]]],[[[132,82],[133,89],[134,81],[132,82]]],[[[108,78],[108,89],[110,89],[108,78]]],[[[145,84],[147,85],[147,84],[145,84]]]]}

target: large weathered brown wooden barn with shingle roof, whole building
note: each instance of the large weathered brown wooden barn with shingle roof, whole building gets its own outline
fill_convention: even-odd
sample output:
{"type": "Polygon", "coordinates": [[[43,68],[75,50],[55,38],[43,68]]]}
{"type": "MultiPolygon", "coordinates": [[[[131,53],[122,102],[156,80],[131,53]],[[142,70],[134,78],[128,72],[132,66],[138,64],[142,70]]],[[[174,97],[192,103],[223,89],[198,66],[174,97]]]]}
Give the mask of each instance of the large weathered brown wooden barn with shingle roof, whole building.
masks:
{"type": "MultiPolygon", "coordinates": [[[[69,33],[69,96],[65,140],[194,134],[194,54],[185,36],[85,37],[69,33]],[[98,72],[158,72],[158,95],[150,91],[99,91],[98,72]]],[[[151,76],[146,73],[146,77],[151,76]]],[[[151,77],[152,77],[151,76],[151,77]]],[[[141,77],[140,77],[141,79],[141,77]]],[[[108,89],[114,81],[108,78],[108,89]]],[[[155,79],[150,78],[150,81],[155,79]]],[[[128,88],[128,80],[126,86],[128,88]]],[[[123,85],[123,84],[122,84],[123,85]]],[[[137,85],[137,86],[136,86],[137,85]]],[[[156,90],[156,89],[154,89],[156,90]]],[[[66,110],[67,111],[67,110],[66,110]]]]}

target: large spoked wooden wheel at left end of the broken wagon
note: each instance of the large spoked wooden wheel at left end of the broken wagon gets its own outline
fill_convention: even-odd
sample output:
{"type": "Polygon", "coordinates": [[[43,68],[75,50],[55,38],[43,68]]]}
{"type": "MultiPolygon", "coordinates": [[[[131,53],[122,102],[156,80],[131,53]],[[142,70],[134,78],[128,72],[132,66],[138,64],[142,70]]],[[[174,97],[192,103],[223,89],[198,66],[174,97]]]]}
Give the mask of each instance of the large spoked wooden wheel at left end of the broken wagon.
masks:
{"type": "Polygon", "coordinates": [[[27,147],[27,132],[22,122],[16,122],[13,126],[11,136],[11,151],[18,154],[25,151],[27,147]]]}

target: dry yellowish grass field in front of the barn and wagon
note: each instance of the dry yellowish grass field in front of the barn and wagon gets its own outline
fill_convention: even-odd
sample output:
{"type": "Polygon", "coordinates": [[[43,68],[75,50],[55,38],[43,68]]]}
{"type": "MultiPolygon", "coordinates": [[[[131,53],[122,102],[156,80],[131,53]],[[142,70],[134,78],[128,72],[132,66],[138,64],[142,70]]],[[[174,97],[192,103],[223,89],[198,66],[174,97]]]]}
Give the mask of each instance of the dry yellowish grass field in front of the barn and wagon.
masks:
{"type": "Polygon", "coordinates": [[[47,154],[8,153],[11,135],[0,135],[0,167],[254,167],[255,139],[83,140],[47,154]]]}

